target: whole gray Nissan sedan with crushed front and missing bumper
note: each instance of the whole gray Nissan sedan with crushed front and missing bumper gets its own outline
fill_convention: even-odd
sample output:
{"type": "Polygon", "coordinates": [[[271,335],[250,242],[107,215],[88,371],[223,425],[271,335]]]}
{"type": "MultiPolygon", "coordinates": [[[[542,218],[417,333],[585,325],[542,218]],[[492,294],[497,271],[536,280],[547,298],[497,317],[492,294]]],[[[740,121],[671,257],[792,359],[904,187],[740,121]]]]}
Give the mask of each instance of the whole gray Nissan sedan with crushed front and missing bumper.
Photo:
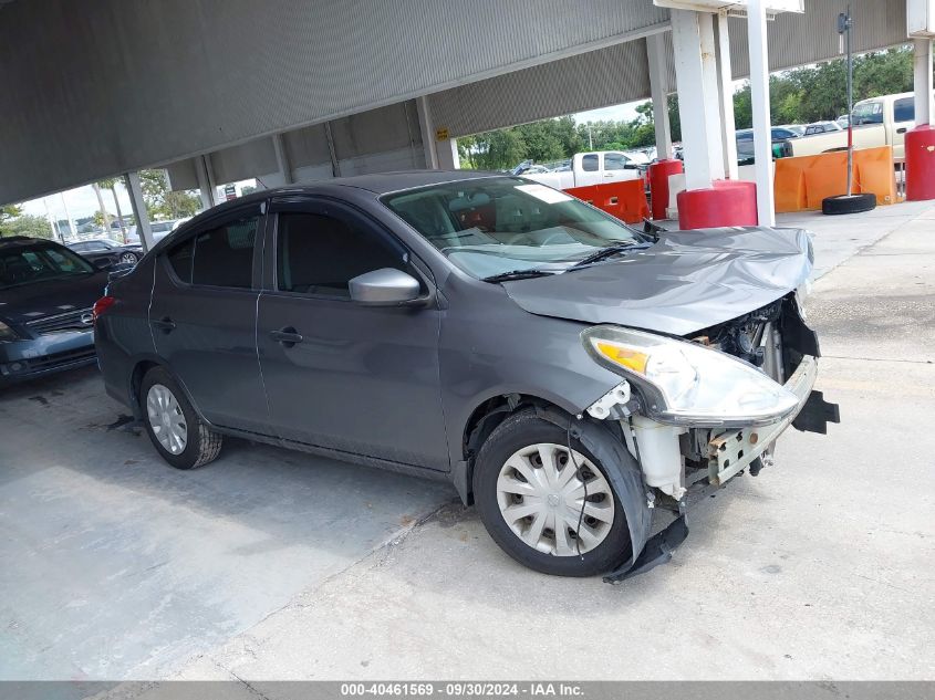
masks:
{"type": "Polygon", "coordinates": [[[689,495],[837,421],[811,268],[802,230],[642,232],[519,177],[361,176],[196,217],[111,281],[96,346],[174,467],[241,436],[449,479],[519,562],[619,581],[671,557],[689,495]]]}

